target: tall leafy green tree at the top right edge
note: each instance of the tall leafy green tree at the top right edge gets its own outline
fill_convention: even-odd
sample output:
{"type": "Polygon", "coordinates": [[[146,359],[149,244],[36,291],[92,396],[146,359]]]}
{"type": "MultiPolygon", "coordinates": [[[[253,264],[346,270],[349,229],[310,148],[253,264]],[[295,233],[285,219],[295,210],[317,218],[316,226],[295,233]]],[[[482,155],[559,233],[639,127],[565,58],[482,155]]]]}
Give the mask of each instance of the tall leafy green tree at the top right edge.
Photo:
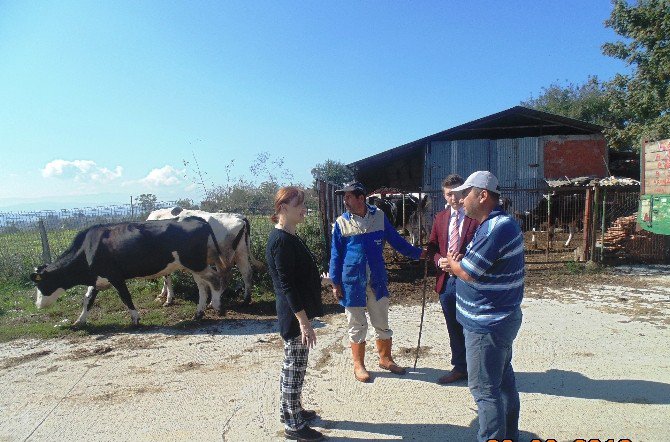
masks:
{"type": "Polygon", "coordinates": [[[606,84],[610,111],[621,124],[605,135],[615,145],[638,149],[645,139],[670,138],[670,1],[612,4],[605,25],[625,40],[604,44],[603,53],[625,61],[631,73],[606,84]]]}

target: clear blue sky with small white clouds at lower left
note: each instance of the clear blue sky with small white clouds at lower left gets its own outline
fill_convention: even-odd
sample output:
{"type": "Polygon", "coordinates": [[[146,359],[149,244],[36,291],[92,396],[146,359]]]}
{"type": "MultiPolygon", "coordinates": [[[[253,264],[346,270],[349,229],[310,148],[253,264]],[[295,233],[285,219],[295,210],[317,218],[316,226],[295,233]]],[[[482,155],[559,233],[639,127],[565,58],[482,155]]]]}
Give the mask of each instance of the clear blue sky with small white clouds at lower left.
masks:
{"type": "Polygon", "coordinates": [[[126,202],[345,163],[609,79],[608,0],[0,0],[0,207],[126,202]],[[276,171],[275,171],[276,172],[276,171]],[[186,172],[187,175],[193,176],[186,172]]]}

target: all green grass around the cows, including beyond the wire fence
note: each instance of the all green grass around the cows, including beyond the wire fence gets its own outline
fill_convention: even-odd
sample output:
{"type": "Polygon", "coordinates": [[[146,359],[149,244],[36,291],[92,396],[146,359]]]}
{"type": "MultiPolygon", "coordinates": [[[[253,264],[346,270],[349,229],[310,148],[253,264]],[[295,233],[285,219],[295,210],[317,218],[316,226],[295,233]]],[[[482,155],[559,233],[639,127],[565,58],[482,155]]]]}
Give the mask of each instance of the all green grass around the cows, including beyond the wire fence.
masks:
{"type": "MultiPolygon", "coordinates": [[[[253,215],[251,223],[251,250],[260,261],[265,261],[265,246],[270,230],[273,228],[267,216],[253,215]]],[[[53,250],[65,250],[77,230],[59,230],[49,236],[53,250]]],[[[324,244],[316,216],[309,216],[298,228],[298,234],[305,240],[314,253],[317,262],[321,262],[324,244]]],[[[0,245],[9,247],[11,259],[5,259],[7,249],[0,255],[0,341],[17,338],[55,338],[63,336],[87,335],[101,332],[117,332],[132,329],[130,315],[121,303],[116,290],[101,292],[90,312],[88,324],[82,329],[71,325],[79,317],[86,288],[74,287],[68,290],[51,307],[37,309],[35,307],[35,288],[29,275],[34,266],[41,263],[41,242],[39,234],[35,238],[25,233],[0,235],[0,245]]],[[[56,255],[54,255],[56,256],[56,255]]],[[[128,288],[133,302],[140,313],[141,327],[172,326],[191,327],[196,323],[192,320],[197,303],[197,287],[188,274],[177,273],[173,276],[175,283],[175,304],[162,307],[154,299],[161,291],[162,280],[132,280],[128,288]]],[[[235,270],[232,287],[242,284],[239,273],[235,270]]],[[[274,294],[272,282],[264,272],[254,275],[252,289],[253,303],[249,307],[238,308],[239,297],[229,299],[229,306],[235,310],[226,314],[227,318],[239,317],[244,314],[273,314],[274,294]]],[[[205,320],[217,320],[216,313],[208,310],[205,320]]]]}

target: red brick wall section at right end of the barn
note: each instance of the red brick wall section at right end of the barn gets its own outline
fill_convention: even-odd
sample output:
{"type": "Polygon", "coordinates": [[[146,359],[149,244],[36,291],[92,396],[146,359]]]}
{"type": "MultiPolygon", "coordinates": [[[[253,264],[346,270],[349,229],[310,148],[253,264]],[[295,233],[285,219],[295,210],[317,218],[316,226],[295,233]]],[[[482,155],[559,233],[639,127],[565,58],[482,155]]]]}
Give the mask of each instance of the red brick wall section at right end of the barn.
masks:
{"type": "Polygon", "coordinates": [[[607,145],[598,139],[549,139],[544,144],[544,177],[606,177],[607,145]]]}

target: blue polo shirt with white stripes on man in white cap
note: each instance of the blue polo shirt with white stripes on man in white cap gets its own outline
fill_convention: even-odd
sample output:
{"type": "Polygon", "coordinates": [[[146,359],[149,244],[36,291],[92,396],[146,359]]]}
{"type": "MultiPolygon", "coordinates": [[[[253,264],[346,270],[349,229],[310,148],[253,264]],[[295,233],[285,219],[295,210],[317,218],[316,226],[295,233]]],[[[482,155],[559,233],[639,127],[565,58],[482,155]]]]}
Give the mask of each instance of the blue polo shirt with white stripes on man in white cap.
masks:
{"type": "Polygon", "coordinates": [[[468,244],[461,267],[474,281],[456,281],[456,319],[464,328],[490,333],[520,318],[525,278],[519,224],[496,207],[468,244]]]}

